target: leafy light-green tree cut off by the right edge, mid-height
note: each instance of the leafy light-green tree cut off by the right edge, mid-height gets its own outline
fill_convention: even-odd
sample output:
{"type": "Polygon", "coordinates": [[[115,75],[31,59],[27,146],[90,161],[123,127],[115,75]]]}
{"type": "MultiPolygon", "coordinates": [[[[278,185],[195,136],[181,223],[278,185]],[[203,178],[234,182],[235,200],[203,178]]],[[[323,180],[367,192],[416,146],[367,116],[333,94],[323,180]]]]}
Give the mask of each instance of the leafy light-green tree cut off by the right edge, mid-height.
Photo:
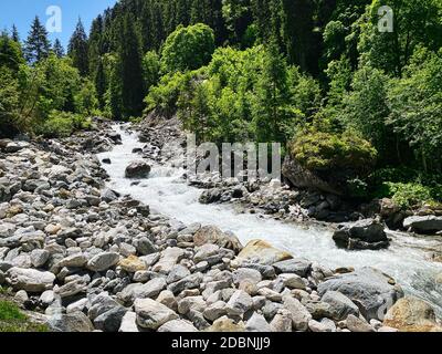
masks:
{"type": "Polygon", "coordinates": [[[404,77],[393,80],[389,90],[388,123],[413,147],[425,171],[438,168],[442,156],[441,69],[442,50],[438,54],[419,50],[404,77]]]}

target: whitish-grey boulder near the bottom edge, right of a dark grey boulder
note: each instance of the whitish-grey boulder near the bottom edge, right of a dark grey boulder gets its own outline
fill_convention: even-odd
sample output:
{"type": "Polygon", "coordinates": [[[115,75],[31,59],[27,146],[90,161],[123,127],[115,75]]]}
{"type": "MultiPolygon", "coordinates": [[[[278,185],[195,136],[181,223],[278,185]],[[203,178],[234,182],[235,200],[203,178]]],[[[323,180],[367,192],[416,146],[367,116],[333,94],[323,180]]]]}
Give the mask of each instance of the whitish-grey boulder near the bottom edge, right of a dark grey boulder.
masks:
{"type": "Polygon", "coordinates": [[[137,324],[143,329],[158,330],[165,323],[178,320],[178,314],[151,299],[136,299],[134,303],[137,324]]]}

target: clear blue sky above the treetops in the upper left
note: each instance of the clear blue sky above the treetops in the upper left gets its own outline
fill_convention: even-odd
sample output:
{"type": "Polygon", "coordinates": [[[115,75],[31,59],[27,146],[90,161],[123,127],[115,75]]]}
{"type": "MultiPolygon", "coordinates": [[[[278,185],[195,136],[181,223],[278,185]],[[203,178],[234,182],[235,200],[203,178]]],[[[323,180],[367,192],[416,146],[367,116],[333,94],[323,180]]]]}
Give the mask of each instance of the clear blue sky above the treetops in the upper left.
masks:
{"type": "Polygon", "coordinates": [[[59,38],[66,48],[78,17],[88,33],[92,20],[116,2],[117,0],[0,0],[0,30],[9,30],[15,23],[21,40],[24,40],[34,17],[39,15],[42,23],[46,23],[51,18],[46,15],[46,9],[55,6],[62,11],[62,32],[50,33],[50,39],[54,41],[59,38]]]}

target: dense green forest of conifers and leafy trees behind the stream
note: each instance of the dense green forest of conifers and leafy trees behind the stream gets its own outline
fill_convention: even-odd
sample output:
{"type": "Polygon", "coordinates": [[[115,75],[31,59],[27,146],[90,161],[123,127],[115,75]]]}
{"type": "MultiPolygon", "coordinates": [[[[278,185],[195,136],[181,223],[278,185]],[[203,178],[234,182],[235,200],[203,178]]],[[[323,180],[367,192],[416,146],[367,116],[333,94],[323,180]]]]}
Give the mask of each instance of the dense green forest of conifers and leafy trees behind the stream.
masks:
{"type": "Polygon", "coordinates": [[[352,197],[442,200],[442,1],[122,0],[67,52],[0,37],[0,135],[177,115],[200,140],[281,142],[352,197]],[[394,30],[378,30],[378,9],[394,30]]]}

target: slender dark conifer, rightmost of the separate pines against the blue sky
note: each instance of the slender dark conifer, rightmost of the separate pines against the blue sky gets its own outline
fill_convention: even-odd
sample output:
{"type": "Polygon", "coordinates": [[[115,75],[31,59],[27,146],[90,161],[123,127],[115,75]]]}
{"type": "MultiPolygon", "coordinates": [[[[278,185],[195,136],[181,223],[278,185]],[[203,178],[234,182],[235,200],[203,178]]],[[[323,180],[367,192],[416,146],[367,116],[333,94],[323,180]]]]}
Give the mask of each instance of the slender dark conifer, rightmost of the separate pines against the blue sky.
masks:
{"type": "Polygon", "coordinates": [[[72,58],[73,64],[78,69],[80,74],[86,76],[90,72],[88,44],[87,35],[81,19],[78,19],[76,29],[71,37],[67,54],[72,58]]]}

